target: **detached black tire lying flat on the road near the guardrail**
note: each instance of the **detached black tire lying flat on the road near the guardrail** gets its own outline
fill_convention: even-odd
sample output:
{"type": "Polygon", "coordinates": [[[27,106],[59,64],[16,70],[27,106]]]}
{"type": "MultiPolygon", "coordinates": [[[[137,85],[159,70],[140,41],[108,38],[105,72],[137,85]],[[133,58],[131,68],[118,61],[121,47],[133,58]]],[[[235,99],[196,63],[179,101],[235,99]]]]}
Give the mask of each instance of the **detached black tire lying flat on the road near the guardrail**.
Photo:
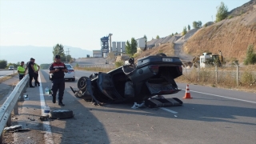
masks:
{"type": "Polygon", "coordinates": [[[53,111],[50,111],[49,118],[53,118],[53,119],[74,118],[74,114],[72,110],[53,110],[53,111]]]}

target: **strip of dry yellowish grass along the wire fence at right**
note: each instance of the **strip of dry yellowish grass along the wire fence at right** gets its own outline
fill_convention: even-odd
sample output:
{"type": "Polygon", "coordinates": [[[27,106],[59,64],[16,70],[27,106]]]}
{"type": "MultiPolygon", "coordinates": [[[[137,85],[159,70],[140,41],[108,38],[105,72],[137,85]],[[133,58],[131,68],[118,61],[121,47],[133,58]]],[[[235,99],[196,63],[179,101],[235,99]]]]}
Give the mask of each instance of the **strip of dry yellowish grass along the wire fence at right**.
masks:
{"type": "Polygon", "coordinates": [[[239,70],[239,85],[237,86],[236,71],[218,69],[218,82],[216,82],[216,73],[213,68],[194,69],[175,79],[176,82],[188,84],[198,84],[202,86],[212,86],[226,89],[236,89],[242,91],[256,92],[256,71],[245,67],[239,70]]]}

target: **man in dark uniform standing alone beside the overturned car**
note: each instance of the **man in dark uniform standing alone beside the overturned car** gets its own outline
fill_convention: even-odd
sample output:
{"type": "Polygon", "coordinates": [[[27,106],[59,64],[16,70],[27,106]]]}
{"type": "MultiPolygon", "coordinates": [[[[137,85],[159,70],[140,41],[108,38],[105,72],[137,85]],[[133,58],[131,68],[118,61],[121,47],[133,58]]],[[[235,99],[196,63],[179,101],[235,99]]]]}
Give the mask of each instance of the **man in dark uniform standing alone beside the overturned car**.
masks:
{"type": "Polygon", "coordinates": [[[60,55],[56,55],[54,58],[55,62],[50,65],[49,72],[52,75],[52,96],[53,103],[56,102],[56,94],[58,91],[58,105],[65,106],[62,102],[64,90],[65,90],[65,79],[64,72],[67,73],[67,69],[64,63],[61,62],[60,55]]]}

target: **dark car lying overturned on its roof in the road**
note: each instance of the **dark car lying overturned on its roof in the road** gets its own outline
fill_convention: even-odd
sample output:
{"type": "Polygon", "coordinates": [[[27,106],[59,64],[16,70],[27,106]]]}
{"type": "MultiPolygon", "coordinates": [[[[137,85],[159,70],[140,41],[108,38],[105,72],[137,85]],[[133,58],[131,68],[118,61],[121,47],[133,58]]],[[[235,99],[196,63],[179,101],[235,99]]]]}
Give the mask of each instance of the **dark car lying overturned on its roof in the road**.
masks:
{"type": "Polygon", "coordinates": [[[108,73],[79,78],[79,90],[70,88],[76,97],[92,99],[96,104],[140,102],[155,95],[180,91],[174,81],[182,75],[182,62],[178,57],[157,54],[138,59],[137,65],[134,58],[130,58],[129,63],[108,73]]]}

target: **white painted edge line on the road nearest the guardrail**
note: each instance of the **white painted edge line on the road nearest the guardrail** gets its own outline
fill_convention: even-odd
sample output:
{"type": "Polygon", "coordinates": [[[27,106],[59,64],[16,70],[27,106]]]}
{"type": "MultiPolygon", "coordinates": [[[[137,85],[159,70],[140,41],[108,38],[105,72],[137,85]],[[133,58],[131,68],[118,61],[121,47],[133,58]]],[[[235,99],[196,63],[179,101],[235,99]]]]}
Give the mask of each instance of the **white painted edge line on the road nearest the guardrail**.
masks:
{"type": "MultiPolygon", "coordinates": [[[[38,74],[38,78],[40,80],[39,82],[42,82],[40,78],[40,74],[38,74]]],[[[39,87],[39,93],[40,93],[41,113],[43,114],[44,113],[43,109],[44,109],[44,106],[46,106],[46,101],[43,96],[42,83],[39,87]]],[[[46,134],[44,134],[45,143],[54,144],[53,134],[51,133],[51,128],[50,128],[50,122],[49,121],[42,122],[42,127],[43,127],[43,130],[46,131],[46,134]]]]}

